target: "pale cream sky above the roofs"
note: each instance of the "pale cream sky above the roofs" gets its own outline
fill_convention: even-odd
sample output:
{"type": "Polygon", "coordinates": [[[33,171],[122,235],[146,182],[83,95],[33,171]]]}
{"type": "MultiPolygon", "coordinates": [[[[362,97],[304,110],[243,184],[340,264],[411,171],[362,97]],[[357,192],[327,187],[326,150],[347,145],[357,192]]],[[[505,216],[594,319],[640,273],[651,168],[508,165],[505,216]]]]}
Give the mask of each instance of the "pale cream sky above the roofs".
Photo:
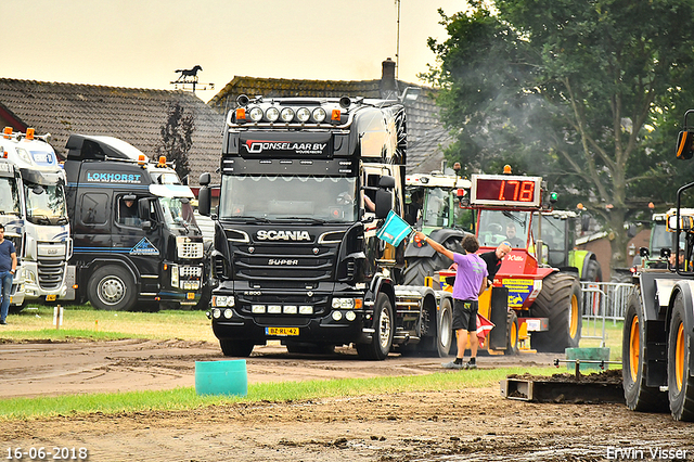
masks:
{"type": "MultiPolygon", "coordinates": [[[[400,80],[425,84],[417,74],[436,65],[439,8],[450,16],[463,1],[401,0],[400,80]]],[[[398,43],[395,0],[2,0],[2,11],[0,77],[174,90],[177,69],[200,65],[204,101],[234,76],[378,79],[398,43]]]]}

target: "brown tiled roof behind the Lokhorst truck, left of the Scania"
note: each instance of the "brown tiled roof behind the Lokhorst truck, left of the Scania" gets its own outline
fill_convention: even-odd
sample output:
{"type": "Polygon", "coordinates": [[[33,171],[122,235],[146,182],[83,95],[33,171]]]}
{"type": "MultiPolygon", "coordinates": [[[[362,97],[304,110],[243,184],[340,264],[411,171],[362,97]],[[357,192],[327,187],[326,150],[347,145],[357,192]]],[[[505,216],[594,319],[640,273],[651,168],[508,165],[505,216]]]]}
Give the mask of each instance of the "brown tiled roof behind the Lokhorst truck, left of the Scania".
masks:
{"type": "Polygon", "coordinates": [[[0,123],[37,134],[51,133],[51,144],[65,156],[72,133],[123,139],[151,157],[162,138],[169,103],[195,114],[190,152],[191,183],[219,166],[223,117],[194,94],[183,91],[0,78],[0,123]]]}

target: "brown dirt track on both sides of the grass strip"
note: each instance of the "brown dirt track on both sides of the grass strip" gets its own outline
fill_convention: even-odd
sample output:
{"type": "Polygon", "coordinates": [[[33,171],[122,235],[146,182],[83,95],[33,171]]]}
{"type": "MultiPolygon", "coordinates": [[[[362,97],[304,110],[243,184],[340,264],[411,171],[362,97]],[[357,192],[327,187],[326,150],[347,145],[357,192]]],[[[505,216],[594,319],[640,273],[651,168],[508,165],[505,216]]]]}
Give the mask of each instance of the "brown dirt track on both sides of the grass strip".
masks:
{"type": "MultiPolygon", "coordinates": [[[[310,359],[282,347],[259,352],[248,359],[249,383],[440,370],[433,358],[363,362],[349,350],[310,359]]],[[[121,341],[2,344],[0,358],[0,389],[9,397],[192,386],[194,360],[221,356],[206,343],[121,341]]],[[[486,367],[506,361],[480,359],[486,367]]],[[[85,447],[91,461],[678,460],[678,449],[686,451],[680,459],[694,460],[694,425],[622,405],[509,400],[490,387],[3,423],[0,457],[16,447],[85,447]],[[620,450],[634,457],[615,457],[620,450]]]]}

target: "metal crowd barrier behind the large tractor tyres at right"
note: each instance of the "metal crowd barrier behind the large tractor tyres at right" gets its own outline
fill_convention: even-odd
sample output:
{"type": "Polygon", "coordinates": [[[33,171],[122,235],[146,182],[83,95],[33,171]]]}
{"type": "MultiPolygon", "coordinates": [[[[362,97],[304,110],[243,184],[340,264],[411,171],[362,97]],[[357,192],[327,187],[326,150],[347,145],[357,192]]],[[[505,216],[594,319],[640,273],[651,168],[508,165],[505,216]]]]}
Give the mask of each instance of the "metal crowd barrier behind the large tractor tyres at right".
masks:
{"type": "Polygon", "coordinates": [[[605,323],[625,318],[635,285],[617,282],[581,282],[583,329],[581,338],[599,338],[605,345],[605,323]],[[600,332],[599,332],[600,330],[600,332]]]}

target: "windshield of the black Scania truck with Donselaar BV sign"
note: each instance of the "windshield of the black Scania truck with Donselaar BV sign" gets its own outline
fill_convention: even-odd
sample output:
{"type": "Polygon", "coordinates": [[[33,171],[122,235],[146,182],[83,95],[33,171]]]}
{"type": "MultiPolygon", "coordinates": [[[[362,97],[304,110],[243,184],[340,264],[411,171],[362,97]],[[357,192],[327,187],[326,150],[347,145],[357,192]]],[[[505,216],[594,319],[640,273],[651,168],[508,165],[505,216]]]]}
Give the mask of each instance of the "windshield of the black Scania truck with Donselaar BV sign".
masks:
{"type": "Polygon", "coordinates": [[[354,222],[356,193],[356,178],[223,176],[219,218],[354,222]]]}

